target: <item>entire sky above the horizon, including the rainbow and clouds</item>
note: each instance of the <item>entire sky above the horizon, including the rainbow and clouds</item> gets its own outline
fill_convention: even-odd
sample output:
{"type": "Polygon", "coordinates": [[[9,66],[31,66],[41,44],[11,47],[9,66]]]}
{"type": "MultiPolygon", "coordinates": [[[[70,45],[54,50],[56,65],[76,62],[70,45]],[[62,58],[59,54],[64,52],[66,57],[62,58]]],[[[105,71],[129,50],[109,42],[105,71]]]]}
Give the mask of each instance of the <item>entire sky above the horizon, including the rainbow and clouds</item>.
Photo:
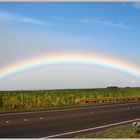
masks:
{"type": "Polygon", "coordinates": [[[0,90],[140,86],[139,2],[0,2],[0,90]]]}

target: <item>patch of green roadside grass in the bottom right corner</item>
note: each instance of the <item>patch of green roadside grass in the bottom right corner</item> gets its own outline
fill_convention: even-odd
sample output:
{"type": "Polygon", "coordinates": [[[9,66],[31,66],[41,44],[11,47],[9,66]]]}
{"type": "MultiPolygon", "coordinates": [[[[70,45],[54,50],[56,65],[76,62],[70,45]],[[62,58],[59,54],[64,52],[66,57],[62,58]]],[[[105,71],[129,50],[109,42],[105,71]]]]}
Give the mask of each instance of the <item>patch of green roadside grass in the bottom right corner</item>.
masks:
{"type": "Polygon", "coordinates": [[[140,138],[140,131],[136,131],[132,124],[126,124],[93,134],[81,135],[79,138],[140,138]]]}

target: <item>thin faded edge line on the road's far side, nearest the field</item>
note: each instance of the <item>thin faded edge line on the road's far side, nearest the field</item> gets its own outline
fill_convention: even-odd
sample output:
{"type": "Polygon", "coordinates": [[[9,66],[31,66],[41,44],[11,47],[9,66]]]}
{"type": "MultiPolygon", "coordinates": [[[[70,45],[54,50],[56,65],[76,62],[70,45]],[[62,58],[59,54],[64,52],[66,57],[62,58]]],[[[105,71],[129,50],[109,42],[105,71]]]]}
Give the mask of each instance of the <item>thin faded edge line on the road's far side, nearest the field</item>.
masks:
{"type": "Polygon", "coordinates": [[[46,110],[46,111],[36,111],[36,112],[18,112],[18,113],[5,113],[0,114],[0,116],[10,116],[10,115],[23,115],[23,114],[38,114],[38,113],[51,113],[51,112],[63,112],[63,111],[70,111],[70,110],[84,110],[89,108],[107,108],[111,106],[121,106],[121,105],[131,105],[131,104],[139,104],[137,103],[127,103],[127,104],[113,104],[113,105],[101,105],[101,106],[84,106],[84,107],[78,107],[78,108],[68,108],[68,109],[57,109],[57,110],[46,110]]]}

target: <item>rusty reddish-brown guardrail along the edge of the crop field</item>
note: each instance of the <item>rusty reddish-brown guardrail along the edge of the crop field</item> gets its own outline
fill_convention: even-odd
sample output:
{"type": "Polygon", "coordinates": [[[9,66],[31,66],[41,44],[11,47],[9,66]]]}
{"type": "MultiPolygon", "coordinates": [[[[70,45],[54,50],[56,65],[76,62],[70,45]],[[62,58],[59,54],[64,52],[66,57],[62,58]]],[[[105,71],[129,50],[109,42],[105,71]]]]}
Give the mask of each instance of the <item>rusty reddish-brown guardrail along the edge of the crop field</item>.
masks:
{"type": "Polygon", "coordinates": [[[122,101],[138,101],[140,96],[129,96],[129,97],[108,97],[108,98],[83,98],[77,101],[77,104],[84,103],[104,103],[104,102],[122,102],[122,101]]]}

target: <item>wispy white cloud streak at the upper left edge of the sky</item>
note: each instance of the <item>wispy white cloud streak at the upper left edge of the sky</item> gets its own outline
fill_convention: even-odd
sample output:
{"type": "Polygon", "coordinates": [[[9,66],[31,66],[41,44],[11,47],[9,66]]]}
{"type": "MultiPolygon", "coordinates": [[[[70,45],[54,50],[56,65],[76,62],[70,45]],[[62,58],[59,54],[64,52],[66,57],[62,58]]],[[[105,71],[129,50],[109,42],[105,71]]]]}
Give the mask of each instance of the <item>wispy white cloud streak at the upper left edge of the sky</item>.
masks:
{"type": "Polygon", "coordinates": [[[0,11],[0,20],[2,20],[2,21],[15,21],[15,22],[43,25],[43,26],[50,25],[50,24],[43,22],[41,20],[38,20],[38,19],[24,17],[24,16],[21,16],[19,14],[10,13],[10,12],[1,12],[1,11],[0,11]]]}

